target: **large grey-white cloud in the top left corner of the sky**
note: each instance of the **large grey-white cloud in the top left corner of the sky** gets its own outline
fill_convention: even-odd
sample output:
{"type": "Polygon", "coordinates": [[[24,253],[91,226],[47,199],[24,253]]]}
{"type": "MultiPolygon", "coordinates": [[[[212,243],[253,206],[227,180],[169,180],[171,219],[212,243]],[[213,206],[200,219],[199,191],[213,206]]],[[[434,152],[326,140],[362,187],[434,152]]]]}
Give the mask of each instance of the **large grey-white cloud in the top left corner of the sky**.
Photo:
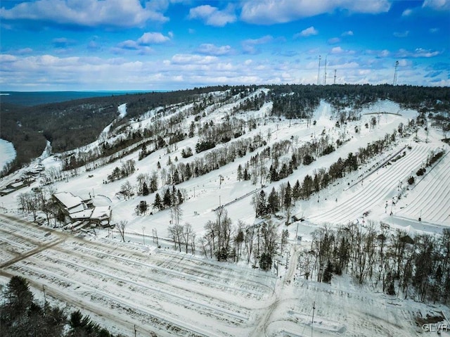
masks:
{"type": "Polygon", "coordinates": [[[0,8],[0,18],[83,27],[141,27],[148,20],[169,20],[139,0],[37,0],[0,8]]]}

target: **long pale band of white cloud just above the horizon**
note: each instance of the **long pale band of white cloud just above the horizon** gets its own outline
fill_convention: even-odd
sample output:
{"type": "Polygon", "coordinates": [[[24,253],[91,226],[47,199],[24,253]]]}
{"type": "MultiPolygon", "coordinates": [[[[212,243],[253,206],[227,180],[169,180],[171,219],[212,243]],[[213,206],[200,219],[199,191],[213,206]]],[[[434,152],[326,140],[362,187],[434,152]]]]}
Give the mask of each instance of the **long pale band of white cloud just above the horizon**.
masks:
{"type": "MultiPolygon", "coordinates": [[[[260,40],[260,39],[258,39],[260,40]]],[[[373,58],[373,51],[366,56],[349,56],[352,51],[335,47],[328,56],[329,65],[338,70],[337,83],[392,82],[394,60],[403,67],[401,83],[423,85],[449,85],[448,66],[442,75],[424,77],[430,70],[415,60],[396,58],[373,58]],[[418,75],[407,76],[408,68],[415,68],[418,75]]],[[[143,51],[145,52],[145,51],[143,51]]],[[[407,51],[403,51],[408,53],[407,51]]],[[[433,51],[416,49],[409,53],[427,54],[433,51]]],[[[4,90],[132,90],[132,89],[186,89],[215,84],[284,84],[316,83],[317,60],[311,58],[293,62],[277,59],[233,59],[198,54],[176,54],[166,59],[142,58],[143,61],[127,61],[124,58],[59,57],[53,55],[18,56],[0,55],[0,86],[4,90]]],[[[331,80],[331,76],[328,77],[331,80]]],[[[328,81],[327,81],[328,82],[328,81]]]]}

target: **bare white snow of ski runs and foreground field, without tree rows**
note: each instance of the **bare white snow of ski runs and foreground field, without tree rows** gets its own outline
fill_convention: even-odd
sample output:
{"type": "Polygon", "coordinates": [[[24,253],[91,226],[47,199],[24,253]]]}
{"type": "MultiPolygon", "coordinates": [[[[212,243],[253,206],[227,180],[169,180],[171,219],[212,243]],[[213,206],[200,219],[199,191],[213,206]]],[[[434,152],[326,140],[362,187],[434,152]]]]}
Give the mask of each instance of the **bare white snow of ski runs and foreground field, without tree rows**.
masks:
{"type": "MultiPolygon", "coordinates": [[[[220,122],[221,115],[231,108],[233,104],[208,111],[202,121],[220,122]]],[[[400,122],[406,125],[417,115],[412,110],[401,110],[396,103],[382,101],[364,108],[361,120],[337,128],[331,118],[332,108],[325,102],[315,111],[315,125],[307,125],[304,120],[271,121],[264,117],[270,108],[271,103],[266,103],[259,111],[243,113],[243,118],[258,115],[265,119],[243,137],[256,134],[266,137],[271,133],[268,145],[282,139],[294,139],[300,145],[322,132],[334,140],[343,132],[348,141],[338,151],[316,158],[311,165],[300,166],[289,177],[266,182],[263,187],[266,194],[281,183],[290,182],[293,186],[297,179],[302,182],[306,174],[327,168],[338,158],[346,158],[349,152],[383,139],[400,122]],[[366,122],[370,123],[372,114],[380,111],[384,113],[376,115],[377,125],[364,127],[366,122]],[[359,132],[355,132],[355,126],[359,132]]],[[[126,105],[118,110],[121,117],[126,115],[126,105]]],[[[133,127],[150,123],[151,115],[133,127]]],[[[185,124],[190,125],[192,120],[193,116],[185,124]]],[[[109,132],[109,127],[105,132],[109,132]]],[[[75,236],[17,219],[23,217],[17,210],[17,196],[37,186],[39,182],[36,182],[0,199],[1,283],[6,283],[8,276],[23,275],[37,293],[44,285],[46,293],[56,302],[81,307],[100,324],[126,336],[131,335],[134,326],[138,336],[148,336],[151,331],[158,336],[311,336],[312,333],[314,336],[423,336],[414,322],[417,313],[436,310],[449,317],[448,307],[430,307],[373,293],[372,289],[354,284],[348,276],[337,276],[331,284],[306,281],[297,275],[296,265],[300,246],[295,234],[303,236],[302,244],[308,245],[311,231],[323,224],[335,226],[374,220],[387,222],[392,228],[429,233],[450,227],[450,156],[444,155],[415,184],[408,186],[406,182],[431,151],[443,148],[448,153],[450,148],[439,141],[435,129],[430,128],[428,136],[420,129],[418,140],[414,136],[399,138],[385,153],[375,156],[358,171],[314,194],[311,200],[298,201],[292,214],[304,215],[306,221],[285,227],[285,219],[279,220],[280,230],[288,229],[290,242],[280,257],[283,261],[287,259],[288,264],[278,272],[253,269],[246,261],[215,262],[204,259],[201,252],[196,256],[176,253],[173,243],[167,240],[169,210],[144,216],[134,212],[140,201],[153,203],[153,194],[129,200],[117,198],[124,181],[136,184],[137,175],[156,170],[158,161],[167,167],[169,156],[172,161],[176,157],[179,163],[188,163],[204,155],[181,157],[183,148],[195,148],[196,137],[180,141],[177,150],[169,154],[159,150],[139,161],[137,152],[127,155],[122,160],[136,160],[137,170],[126,179],[103,183],[114,167],[120,165],[113,163],[55,184],[58,191],[72,192],[82,198],[94,196],[96,205],[110,205],[114,223],[121,220],[129,223],[127,243],[120,243],[116,229],[96,230],[96,236],[75,236]],[[403,152],[405,155],[397,159],[403,152]],[[155,231],[161,248],[156,248],[152,236],[155,231]]],[[[191,224],[198,238],[205,231],[205,223],[215,220],[212,209],[219,204],[225,205],[233,222],[255,222],[250,201],[252,193],[260,191],[262,186],[236,179],[238,165],[245,165],[250,155],[253,154],[177,186],[188,194],[188,200],[181,204],[181,222],[191,224]],[[220,176],[224,179],[220,180],[220,176]]],[[[47,168],[60,165],[55,156],[43,158],[42,163],[47,168]]],[[[3,186],[7,180],[0,184],[3,186]]]]}

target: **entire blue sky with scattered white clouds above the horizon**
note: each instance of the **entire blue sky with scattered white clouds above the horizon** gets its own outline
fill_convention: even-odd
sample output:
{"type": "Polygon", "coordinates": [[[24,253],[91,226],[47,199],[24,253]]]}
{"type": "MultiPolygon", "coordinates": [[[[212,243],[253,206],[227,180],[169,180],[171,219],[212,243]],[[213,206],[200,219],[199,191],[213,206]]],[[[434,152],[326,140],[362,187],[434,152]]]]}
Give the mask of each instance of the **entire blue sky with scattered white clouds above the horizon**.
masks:
{"type": "Polygon", "coordinates": [[[2,0],[0,27],[1,91],[392,84],[396,61],[450,85],[450,0],[2,0]]]}

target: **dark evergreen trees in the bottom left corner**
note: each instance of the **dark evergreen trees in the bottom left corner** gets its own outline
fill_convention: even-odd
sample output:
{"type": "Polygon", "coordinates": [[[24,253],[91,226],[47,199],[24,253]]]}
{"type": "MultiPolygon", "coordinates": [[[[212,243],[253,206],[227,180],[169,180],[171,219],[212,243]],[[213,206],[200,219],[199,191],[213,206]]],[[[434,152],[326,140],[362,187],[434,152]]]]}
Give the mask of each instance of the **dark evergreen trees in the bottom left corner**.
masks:
{"type": "Polygon", "coordinates": [[[13,276],[4,289],[0,305],[0,335],[4,337],[120,337],[83,316],[79,310],[66,314],[48,302],[34,300],[22,276],[13,276]]]}

